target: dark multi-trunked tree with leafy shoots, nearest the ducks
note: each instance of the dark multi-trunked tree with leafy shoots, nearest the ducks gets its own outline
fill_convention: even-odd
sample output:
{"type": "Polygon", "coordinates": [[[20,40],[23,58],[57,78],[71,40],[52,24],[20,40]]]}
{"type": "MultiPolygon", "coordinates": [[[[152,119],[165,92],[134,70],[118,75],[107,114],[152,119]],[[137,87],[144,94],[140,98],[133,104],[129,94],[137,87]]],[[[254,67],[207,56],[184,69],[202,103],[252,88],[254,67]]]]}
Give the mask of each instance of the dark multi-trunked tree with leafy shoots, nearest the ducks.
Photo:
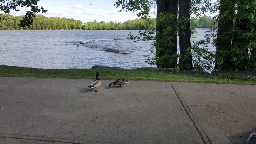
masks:
{"type": "Polygon", "coordinates": [[[180,66],[182,66],[182,69],[190,69],[193,67],[191,51],[190,54],[189,51],[184,51],[185,48],[190,47],[189,2],[188,0],[180,1],[179,9],[182,9],[182,12],[179,14],[179,20],[177,19],[178,0],[118,0],[115,6],[122,7],[120,12],[140,10],[137,16],[148,18],[150,17],[150,10],[156,4],[156,37],[146,36],[154,32],[146,31],[140,33],[140,35],[146,36],[147,38],[140,39],[140,37],[133,36],[131,38],[137,40],[155,40],[155,43],[153,43],[156,50],[155,57],[152,60],[147,57],[147,63],[156,64],[157,67],[176,67],[177,58],[179,57],[177,55],[177,32],[180,30],[180,36],[182,36],[182,40],[180,41],[182,52],[180,54],[184,58],[180,59],[180,66]],[[189,40],[187,37],[189,37],[189,40]],[[185,67],[187,64],[189,66],[185,67]]]}

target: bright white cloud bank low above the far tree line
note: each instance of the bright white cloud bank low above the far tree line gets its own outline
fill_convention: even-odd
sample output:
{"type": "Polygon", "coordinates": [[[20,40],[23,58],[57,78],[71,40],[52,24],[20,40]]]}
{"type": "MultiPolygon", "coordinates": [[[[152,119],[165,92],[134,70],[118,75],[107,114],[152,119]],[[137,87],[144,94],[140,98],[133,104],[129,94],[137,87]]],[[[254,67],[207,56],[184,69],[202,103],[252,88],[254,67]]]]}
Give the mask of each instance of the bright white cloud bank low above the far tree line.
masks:
{"type": "MultiPolygon", "coordinates": [[[[26,11],[30,11],[30,8],[22,7],[19,8],[20,11],[15,12],[11,11],[11,15],[19,16],[26,14],[26,11]]],[[[110,22],[110,21],[117,21],[117,22],[125,22],[126,20],[133,20],[135,18],[139,18],[136,16],[135,12],[123,12],[119,13],[118,9],[108,9],[103,10],[101,8],[95,9],[93,8],[83,8],[83,5],[76,4],[76,5],[65,5],[62,7],[44,7],[47,9],[48,12],[46,13],[38,13],[37,15],[41,14],[46,17],[59,17],[59,18],[73,18],[76,20],[81,20],[82,23],[86,23],[89,21],[96,20],[97,22],[110,22]]],[[[2,12],[3,13],[3,12],[2,12]]]]}

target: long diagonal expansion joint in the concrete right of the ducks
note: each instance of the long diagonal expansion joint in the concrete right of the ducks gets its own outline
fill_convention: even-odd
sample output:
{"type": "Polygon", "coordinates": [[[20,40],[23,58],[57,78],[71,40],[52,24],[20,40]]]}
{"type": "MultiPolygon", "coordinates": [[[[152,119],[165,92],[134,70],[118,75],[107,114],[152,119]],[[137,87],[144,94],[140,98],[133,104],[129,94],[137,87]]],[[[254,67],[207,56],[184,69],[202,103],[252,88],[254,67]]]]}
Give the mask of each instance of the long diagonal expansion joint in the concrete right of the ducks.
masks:
{"type": "MultiPolygon", "coordinates": [[[[208,138],[208,136],[206,135],[206,133],[204,132],[204,130],[200,128],[200,129],[204,132],[204,136],[203,136],[202,133],[200,132],[199,128],[197,127],[195,121],[191,118],[191,116],[190,116],[190,114],[189,114],[189,112],[188,112],[188,111],[190,111],[190,109],[189,109],[189,107],[187,106],[186,102],[180,98],[180,95],[178,94],[178,93],[179,93],[178,90],[177,90],[176,88],[174,88],[174,86],[173,86],[172,83],[170,83],[170,84],[172,85],[172,88],[173,88],[175,94],[177,95],[177,97],[178,97],[180,103],[182,104],[183,108],[185,109],[185,111],[186,111],[186,113],[187,113],[189,119],[191,120],[191,122],[192,122],[193,125],[195,126],[197,132],[199,133],[199,135],[200,135],[202,141],[203,141],[205,144],[212,144],[212,142],[210,141],[210,139],[208,138]],[[207,141],[208,141],[208,142],[205,141],[204,137],[207,138],[207,141]]],[[[191,115],[194,117],[194,115],[193,115],[192,113],[191,113],[191,115]]]]}

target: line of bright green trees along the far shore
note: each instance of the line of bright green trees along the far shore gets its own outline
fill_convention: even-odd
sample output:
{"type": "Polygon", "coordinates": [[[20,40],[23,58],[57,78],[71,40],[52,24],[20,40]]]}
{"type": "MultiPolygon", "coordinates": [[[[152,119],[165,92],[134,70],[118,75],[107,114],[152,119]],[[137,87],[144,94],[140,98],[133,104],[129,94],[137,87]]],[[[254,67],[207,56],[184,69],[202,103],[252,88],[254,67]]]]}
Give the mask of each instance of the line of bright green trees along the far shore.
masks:
{"type": "MultiPolygon", "coordinates": [[[[85,29],[85,30],[140,30],[142,28],[153,30],[156,29],[156,19],[150,18],[148,21],[142,18],[127,20],[124,23],[110,21],[110,22],[86,22],[82,23],[81,20],[75,20],[73,18],[59,18],[59,17],[45,17],[43,15],[37,15],[33,23],[28,27],[20,27],[21,16],[13,16],[10,14],[0,15],[0,30],[47,30],[47,29],[85,29]]],[[[215,19],[210,16],[204,16],[201,19],[191,20],[191,27],[193,28],[214,28],[215,19]]]]}

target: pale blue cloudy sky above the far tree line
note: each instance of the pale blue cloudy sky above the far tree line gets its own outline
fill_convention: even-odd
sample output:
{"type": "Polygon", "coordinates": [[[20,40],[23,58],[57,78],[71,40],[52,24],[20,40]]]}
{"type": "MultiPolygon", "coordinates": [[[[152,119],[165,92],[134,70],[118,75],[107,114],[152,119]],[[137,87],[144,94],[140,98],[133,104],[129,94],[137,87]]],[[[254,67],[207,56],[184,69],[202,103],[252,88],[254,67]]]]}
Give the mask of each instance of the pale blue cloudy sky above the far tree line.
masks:
{"type": "MultiPolygon", "coordinates": [[[[125,22],[139,18],[136,13],[119,13],[120,7],[114,6],[117,0],[40,0],[39,7],[48,10],[46,13],[40,13],[46,17],[66,17],[81,20],[82,23],[96,20],[97,22],[125,22]],[[89,5],[91,4],[91,5],[89,5]],[[96,8],[97,7],[97,8],[96,8]]],[[[29,8],[19,8],[19,12],[11,11],[11,15],[18,16],[26,14],[29,8]]],[[[3,13],[3,12],[0,12],[3,13]]]]}

